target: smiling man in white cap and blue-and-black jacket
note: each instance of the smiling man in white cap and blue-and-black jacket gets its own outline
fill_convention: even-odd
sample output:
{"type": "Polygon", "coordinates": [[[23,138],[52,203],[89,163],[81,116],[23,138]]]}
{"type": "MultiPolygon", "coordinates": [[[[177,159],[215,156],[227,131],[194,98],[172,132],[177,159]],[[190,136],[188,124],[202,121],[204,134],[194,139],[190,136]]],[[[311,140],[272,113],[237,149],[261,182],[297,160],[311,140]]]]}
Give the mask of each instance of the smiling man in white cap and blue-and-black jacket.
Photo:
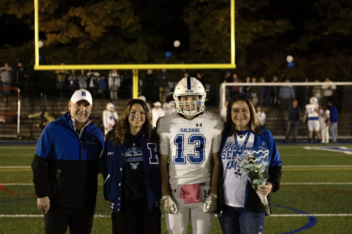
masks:
{"type": "Polygon", "coordinates": [[[98,188],[98,159],[104,146],[100,129],[88,119],[92,95],[76,90],[69,112],[40,134],[32,162],[38,210],[45,233],[90,233],[98,188]]]}

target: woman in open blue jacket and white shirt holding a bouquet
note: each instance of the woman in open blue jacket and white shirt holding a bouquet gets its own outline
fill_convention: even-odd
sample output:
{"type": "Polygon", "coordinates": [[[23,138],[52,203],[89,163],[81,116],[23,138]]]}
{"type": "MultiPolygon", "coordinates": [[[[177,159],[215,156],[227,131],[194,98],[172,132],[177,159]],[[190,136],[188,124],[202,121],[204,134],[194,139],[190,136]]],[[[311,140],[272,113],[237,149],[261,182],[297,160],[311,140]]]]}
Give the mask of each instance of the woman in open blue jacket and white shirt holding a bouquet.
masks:
{"type": "Polygon", "coordinates": [[[238,95],[227,104],[220,151],[222,182],[219,183],[218,217],[225,234],[264,231],[265,207],[235,159],[236,155],[254,151],[268,152],[269,179],[265,185],[258,186],[258,193],[267,196],[270,206],[270,193],[276,192],[280,185],[280,155],[270,131],[260,124],[252,101],[238,95]]]}

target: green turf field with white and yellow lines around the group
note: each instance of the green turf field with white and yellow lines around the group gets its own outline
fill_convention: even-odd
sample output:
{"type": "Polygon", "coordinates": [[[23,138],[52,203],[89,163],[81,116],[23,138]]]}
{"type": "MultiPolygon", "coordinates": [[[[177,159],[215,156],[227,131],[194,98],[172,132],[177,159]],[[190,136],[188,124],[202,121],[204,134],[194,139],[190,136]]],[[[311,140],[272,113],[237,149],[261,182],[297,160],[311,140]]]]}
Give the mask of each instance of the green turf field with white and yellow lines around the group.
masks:
{"type": "MultiPolygon", "coordinates": [[[[30,168],[34,148],[0,145],[2,234],[44,233],[30,168]]],[[[352,145],[278,145],[278,149],[283,162],[281,187],[272,194],[272,216],[265,218],[264,233],[352,233],[352,145]]],[[[101,175],[99,184],[92,233],[111,233],[101,175]]],[[[167,233],[164,218],[162,233],[167,233]]],[[[212,233],[222,233],[217,218],[212,233]]]]}

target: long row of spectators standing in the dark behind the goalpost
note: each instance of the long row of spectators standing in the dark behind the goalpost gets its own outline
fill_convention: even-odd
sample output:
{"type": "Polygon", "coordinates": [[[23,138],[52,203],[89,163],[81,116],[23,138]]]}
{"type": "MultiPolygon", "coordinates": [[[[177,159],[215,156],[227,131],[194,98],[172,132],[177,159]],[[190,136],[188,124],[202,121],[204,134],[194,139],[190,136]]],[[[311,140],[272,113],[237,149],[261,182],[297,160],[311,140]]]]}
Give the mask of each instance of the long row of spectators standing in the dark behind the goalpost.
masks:
{"type": "MultiPolygon", "coordinates": [[[[61,65],[64,65],[61,63],[61,65]]],[[[152,70],[148,69],[145,74],[139,73],[139,95],[144,95],[151,102],[165,102],[171,101],[171,92],[176,82],[174,82],[174,72],[170,72],[167,69],[152,70]],[[172,75],[171,75],[172,74],[172,75]]],[[[92,93],[94,98],[109,98],[116,100],[119,97],[132,98],[132,73],[131,71],[93,71],[93,70],[57,70],[55,71],[56,81],[51,82],[50,77],[37,78],[34,77],[32,67],[30,65],[23,65],[18,62],[14,71],[8,63],[0,67],[0,82],[2,87],[15,86],[19,87],[21,93],[24,95],[33,94],[34,89],[38,90],[37,93],[49,93],[57,94],[57,96],[64,98],[72,93],[77,88],[84,88],[92,93]],[[31,73],[32,74],[29,74],[31,73]],[[15,76],[14,79],[12,79],[15,76]],[[34,87],[36,86],[36,87],[34,87]],[[46,86],[45,88],[42,86],[46,86]],[[39,87],[39,88],[38,88],[39,87]]],[[[37,76],[37,75],[36,75],[37,76]]],[[[184,77],[195,77],[205,86],[206,90],[210,89],[210,84],[206,80],[206,76],[200,72],[195,71],[194,73],[185,72],[184,77]]],[[[177,75],[179,79],[179,75],[177,75]]],[[[263,82],[290,82],[289,79],[278,79],[277,76],[273,76],[272,79],[266,79],[262,76],[240,78],[237,73],[226,71],[223,79],[215,79],[220,82],[246,82],[246,83],[263,83],[263,82]]],[[[214,80],[212,80],[214,82],[214,80]]],[[[309,80],[306,78],[306,82],[309,80]]],[[[323,80],[315,80],[316,82],[323,80]]],[[[332,82],[331,79],[325,78],[325,82],[332,82]]],[[[212,82],[212,83],[213,83],[212,82]]],[[[258,84],[259,85],[259,84],[258,84]]],[[[254,105],[260,105],[263,107],[279,105],[280,102],[291,102],[297,98],[299,103],[308,103],[310,96],[315,96],[319,100],[326,102],[334,95],[336,90],[335,85],[326,86],[307,86],[307,87],[295,87],[292,86],[231,86],[226,89],[226,100],[231,97],[241,94],[250,97],[254,105]],[[301,90],[298,90],[301,89],[301,90]],[[305,90],[307,89],[307,90],[305,90]],[[308,92],[306,92],[308,91],[308,92]],[[296,97],[297,92],[300,96],[296,97]]],[[[216,92],[212,90],[212,93],[216,92]]],[[[4,90],[0,92],[0,95],[8,95],[9,91],[4,90]]]]}

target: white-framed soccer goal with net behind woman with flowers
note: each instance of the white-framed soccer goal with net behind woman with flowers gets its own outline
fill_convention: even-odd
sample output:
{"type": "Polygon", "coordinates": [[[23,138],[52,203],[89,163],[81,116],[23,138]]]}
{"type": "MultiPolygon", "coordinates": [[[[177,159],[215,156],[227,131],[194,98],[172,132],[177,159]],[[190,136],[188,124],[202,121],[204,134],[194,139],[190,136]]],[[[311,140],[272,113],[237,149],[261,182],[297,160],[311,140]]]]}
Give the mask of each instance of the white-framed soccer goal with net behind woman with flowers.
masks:
{"type": "Polygon", "coordinates": [[[235,95],[250,98],[254,106],[260,106],[266,114],[264,126],[277,139],[285,137],[288,110],[293,100],[301,107],[298,139],[306,139],[307,123],[303,123],[305,106],[312,96],[319,104],[331,102],[338,109],[338,138],[352,139],[352,82],[265,82],[265,83],[222,83],[220,85],[219,113],[224,113],[226,103],[235,95]]]}

